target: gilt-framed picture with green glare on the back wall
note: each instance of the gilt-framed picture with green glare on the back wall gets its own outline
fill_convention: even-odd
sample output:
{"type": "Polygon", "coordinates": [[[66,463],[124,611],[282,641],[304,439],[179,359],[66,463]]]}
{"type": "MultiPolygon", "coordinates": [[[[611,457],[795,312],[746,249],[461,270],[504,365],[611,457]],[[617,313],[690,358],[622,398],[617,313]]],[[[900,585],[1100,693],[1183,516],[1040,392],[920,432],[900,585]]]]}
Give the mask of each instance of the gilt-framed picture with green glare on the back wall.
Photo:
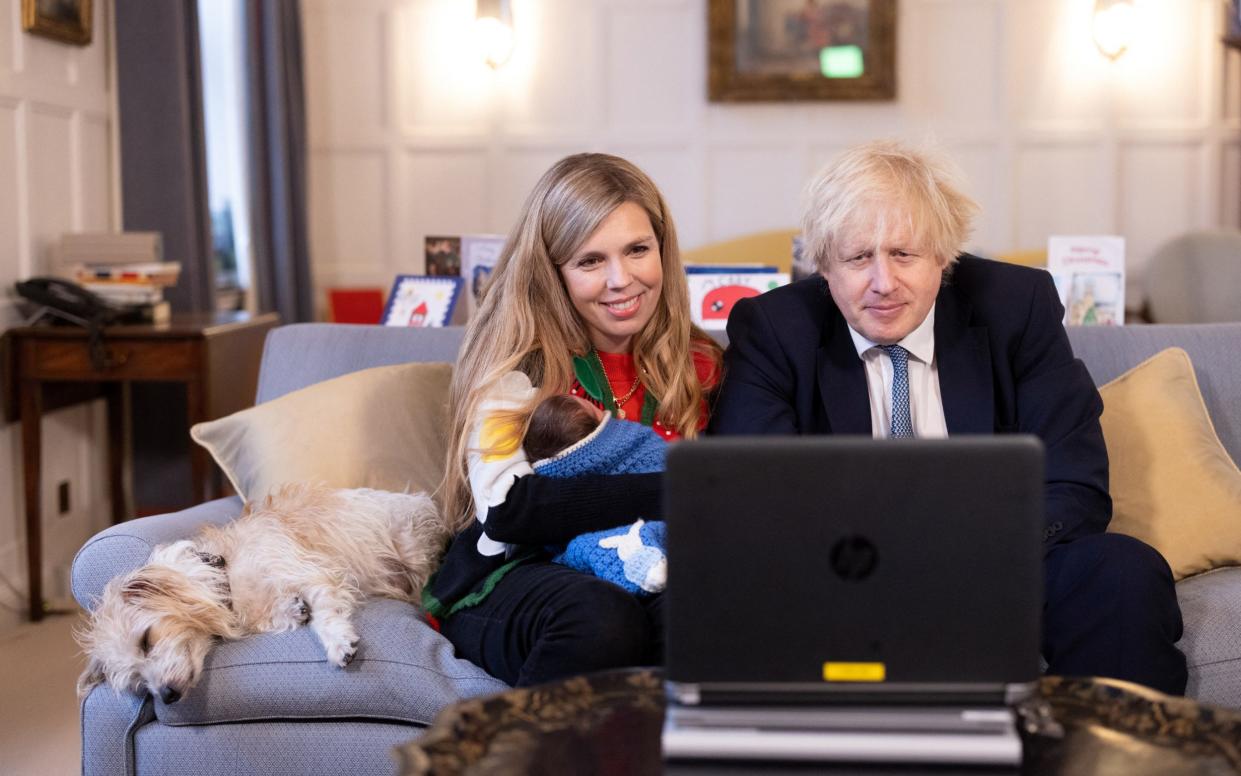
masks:
{"type": "Polygon", "coordinates": [[[896,0],[709,2],[712,102],[896,97],[896,0]]]}

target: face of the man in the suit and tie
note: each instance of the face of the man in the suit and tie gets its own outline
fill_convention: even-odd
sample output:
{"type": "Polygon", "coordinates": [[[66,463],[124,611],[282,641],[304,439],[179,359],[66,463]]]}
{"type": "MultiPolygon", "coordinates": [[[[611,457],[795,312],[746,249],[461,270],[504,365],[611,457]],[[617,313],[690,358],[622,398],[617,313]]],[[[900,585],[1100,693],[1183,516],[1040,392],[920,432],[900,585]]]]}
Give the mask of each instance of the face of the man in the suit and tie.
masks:
{"type": "Polygon", "coordinates": [[[823,272],[831,299],[855,332],[892,345],[926,320],[946,262],[915,241],[905,219],[889,214],[876,246],[875,219],[861,220],[829,256],[823,272]]]}

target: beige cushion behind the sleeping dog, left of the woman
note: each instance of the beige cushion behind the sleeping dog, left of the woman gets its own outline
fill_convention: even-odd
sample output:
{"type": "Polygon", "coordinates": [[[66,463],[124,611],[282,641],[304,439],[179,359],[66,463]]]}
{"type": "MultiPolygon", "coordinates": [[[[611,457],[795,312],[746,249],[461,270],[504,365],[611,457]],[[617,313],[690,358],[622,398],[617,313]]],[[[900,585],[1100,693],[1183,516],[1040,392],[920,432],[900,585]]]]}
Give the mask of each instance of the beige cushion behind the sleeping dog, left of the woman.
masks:
{"type": "Polygon", "coordinates": [[[366,369],[199,423],[190,436],[246,500],[282,483],[431,493],[444,473],[452,371],[366,369]]]}

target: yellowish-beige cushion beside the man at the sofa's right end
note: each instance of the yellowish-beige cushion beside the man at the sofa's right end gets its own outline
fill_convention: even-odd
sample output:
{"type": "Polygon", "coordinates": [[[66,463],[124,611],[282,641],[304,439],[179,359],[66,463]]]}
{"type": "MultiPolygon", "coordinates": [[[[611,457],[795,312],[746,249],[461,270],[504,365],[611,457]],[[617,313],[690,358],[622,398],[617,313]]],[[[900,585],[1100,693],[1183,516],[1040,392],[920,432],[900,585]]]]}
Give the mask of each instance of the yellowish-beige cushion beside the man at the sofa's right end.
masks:
{"type": "Polygon", "coordinates": [[[1178,580],[1241,565],[1241,471],[1215,435],[1189,354],[1157,353],[1100,394],[1108,530],[1159,550],[1178,580]]]}

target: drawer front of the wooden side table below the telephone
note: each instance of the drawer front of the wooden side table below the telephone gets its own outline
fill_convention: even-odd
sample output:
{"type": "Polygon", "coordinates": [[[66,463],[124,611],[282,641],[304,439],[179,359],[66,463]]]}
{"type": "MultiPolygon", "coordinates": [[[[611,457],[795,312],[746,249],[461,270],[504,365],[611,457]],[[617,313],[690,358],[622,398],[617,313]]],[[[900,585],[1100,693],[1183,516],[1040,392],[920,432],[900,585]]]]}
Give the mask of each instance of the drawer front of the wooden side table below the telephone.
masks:
{"type": "Polygon", "coordinates": [[[43,380],[171,380],[194,374],[195,343],[104,338],[104,368],[96,369],[84,340],[22,341],[27,377],[43,380]]]}

